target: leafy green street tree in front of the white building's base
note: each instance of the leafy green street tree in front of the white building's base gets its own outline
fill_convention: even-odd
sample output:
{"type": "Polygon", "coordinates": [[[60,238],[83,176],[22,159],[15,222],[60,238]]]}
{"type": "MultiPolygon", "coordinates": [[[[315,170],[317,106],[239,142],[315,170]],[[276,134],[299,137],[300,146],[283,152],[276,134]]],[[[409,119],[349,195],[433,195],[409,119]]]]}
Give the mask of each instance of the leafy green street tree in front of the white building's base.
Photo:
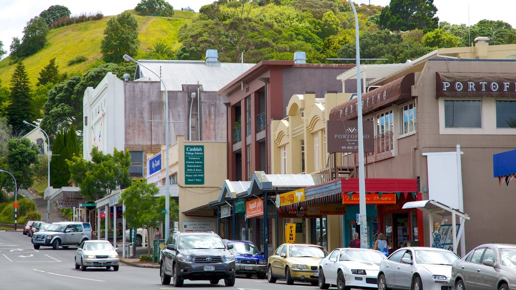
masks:
{"type": "Polygon", "coordinates": [[[80,187],[80,193],[87,200],[101,199],[112,190],[131,185],[129,151],[118,151],[115,148],[115,152],[111,155],[93,148],[91,161],[79,155],[72,157],[67,164],[70,169],[70,181],[80,187]]]}

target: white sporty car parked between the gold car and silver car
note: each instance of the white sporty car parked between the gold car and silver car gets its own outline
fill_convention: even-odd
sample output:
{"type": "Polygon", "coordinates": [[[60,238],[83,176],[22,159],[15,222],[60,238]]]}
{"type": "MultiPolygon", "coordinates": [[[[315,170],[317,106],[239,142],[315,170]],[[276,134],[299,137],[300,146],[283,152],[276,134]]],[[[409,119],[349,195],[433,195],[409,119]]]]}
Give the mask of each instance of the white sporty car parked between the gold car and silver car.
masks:
{"type": "Polygon", "coordinates": [[[377,250],[337,248],[319,262],[319,288],[376,288],[378,268],[385,259],[377,250]]]}

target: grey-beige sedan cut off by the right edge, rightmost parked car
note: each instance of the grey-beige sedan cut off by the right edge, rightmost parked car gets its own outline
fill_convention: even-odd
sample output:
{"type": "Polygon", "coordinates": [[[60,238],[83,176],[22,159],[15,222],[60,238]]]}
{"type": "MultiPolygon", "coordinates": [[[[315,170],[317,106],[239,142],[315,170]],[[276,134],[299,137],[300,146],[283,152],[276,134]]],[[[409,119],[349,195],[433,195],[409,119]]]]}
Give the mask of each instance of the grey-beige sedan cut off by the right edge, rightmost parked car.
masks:
{"type": "Polygon", "coordinates": [[[516,288],[516,245],[480,245],[451,267],[451,288],[457,290],[516,288]]]}

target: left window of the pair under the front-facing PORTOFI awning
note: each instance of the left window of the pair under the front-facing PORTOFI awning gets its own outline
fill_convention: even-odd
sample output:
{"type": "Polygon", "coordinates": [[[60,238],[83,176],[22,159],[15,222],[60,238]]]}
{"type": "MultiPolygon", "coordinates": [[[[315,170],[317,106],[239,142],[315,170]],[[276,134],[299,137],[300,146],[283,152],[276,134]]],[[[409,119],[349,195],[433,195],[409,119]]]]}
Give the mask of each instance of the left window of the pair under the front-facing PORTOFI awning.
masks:
{"type": "Polygon", "coordinates": [[[481,128],[482,101],[444,100],[445,128],[481,128]]]}

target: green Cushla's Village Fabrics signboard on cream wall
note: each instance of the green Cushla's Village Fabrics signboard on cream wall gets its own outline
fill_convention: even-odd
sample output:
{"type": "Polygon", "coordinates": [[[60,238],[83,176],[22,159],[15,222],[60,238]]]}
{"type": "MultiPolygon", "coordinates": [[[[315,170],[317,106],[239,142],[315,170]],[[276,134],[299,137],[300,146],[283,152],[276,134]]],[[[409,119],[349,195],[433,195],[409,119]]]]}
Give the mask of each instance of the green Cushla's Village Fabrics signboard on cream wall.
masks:
{"type": "Polygon", "coordinates": [[[185,145],[185,184],[204,184],[204,145],[185,145]]]}

